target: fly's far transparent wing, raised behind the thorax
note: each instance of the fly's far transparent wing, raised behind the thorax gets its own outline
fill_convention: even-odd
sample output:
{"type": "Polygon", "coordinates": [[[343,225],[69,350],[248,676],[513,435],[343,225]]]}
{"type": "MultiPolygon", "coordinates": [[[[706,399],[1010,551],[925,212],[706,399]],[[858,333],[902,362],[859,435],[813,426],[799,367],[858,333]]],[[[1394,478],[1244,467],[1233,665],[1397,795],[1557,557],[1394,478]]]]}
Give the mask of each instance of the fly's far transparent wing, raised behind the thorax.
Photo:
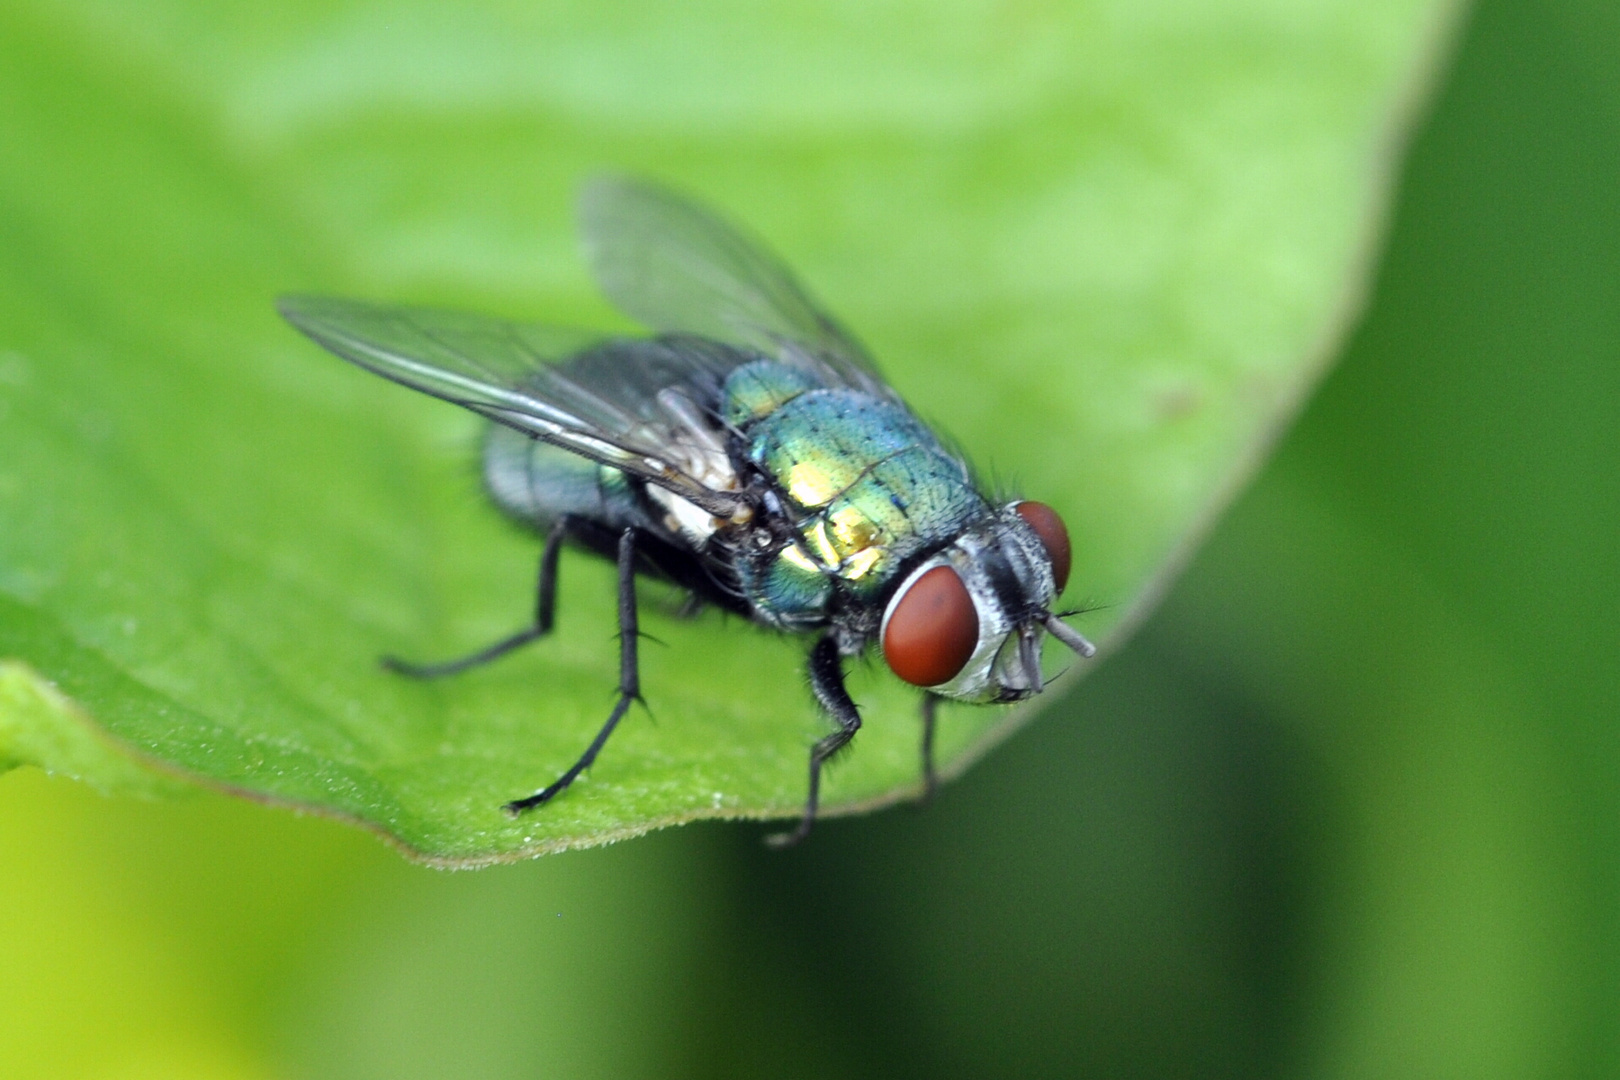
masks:
{"type": "Polygon", "coordinates": [[[651,183],[599,176],[580,194],[580,230],[603,293],[658,330],[731,342],[899,402],[872,358],[761,243],[651,183]]]}

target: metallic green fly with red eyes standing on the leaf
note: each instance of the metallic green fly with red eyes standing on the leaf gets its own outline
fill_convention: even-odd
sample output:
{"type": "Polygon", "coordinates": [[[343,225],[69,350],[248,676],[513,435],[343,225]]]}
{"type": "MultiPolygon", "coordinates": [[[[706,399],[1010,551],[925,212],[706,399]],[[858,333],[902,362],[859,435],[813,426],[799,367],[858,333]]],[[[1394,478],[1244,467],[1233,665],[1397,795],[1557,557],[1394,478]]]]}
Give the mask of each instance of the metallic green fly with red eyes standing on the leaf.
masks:
{"type": "Polygon", "coordinates": [[[923,691],[923,784],[933,790],[941,699],[1040,693],[1050,633],[1095,649],[1051,610],[1069,534],[1040,502],[990,499],[967,463],[878,376],[867,351],[761,244],[643,181],[603,178],[580,199],[601,290],[654,337],[582,338],[488,316],[285,296],[319,345],[491,421],[483,478],[544,538],[535,620],[470,656],[387,664],[437,678],[548,635],[557,560],[572,544],[619,570],[619,698],[551,784],[596,759],[642,696],[637,575],[778,630],[815,635],[808,678],[836,730],[810,746],[792,844],[815,823],[821,767],[860,729],[844,661],[873,644],[923,691]]]}

